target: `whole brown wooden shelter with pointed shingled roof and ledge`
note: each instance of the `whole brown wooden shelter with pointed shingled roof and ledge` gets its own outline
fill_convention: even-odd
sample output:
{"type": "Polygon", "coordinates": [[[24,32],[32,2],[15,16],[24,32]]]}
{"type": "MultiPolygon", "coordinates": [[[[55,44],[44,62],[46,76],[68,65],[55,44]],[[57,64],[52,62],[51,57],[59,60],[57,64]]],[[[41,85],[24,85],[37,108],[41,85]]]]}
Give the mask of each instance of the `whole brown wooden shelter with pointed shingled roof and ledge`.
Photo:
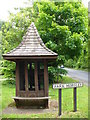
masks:
{"type": "Polygon", "coordinates": [[[57,54],[44,45],[33,22],[20,45],[3,57],[16,62],[16,106],[48,108],[48,62],[57,54]]]}

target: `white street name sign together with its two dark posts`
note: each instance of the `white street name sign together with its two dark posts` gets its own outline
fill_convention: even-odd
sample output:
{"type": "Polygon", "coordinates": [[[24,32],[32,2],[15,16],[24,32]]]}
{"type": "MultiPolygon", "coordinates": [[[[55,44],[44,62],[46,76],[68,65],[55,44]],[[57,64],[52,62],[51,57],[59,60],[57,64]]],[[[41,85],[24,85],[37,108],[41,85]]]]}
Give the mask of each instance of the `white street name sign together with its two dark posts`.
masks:
{"type": "Polygon", "coordinates": [[[77,87],[82,87],[83,83],[67,83],[67,84],[53,84],[53,89],[59,89],[59,116],[62,108],[62,88],[74,88],[74,112],[77,111],[77,87]]]}

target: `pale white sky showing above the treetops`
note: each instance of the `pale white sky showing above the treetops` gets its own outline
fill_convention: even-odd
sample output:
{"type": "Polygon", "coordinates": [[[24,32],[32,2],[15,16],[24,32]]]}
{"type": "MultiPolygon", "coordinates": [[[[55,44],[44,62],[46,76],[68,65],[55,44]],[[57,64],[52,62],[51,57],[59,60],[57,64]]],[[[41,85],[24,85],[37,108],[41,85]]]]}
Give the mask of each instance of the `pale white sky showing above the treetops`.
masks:
{"type": "MultiPolygon", "coordinates": [[[[88,7],[89,1],[90,0],[82,0],[85,7],[88,7]]],[[[8,11],[15,13],[15,7],[31,6],[31,4],[25,4],[26,2],[27,0],[0,0],[0,20],[7,21],[9,17],[8,11]]]]}

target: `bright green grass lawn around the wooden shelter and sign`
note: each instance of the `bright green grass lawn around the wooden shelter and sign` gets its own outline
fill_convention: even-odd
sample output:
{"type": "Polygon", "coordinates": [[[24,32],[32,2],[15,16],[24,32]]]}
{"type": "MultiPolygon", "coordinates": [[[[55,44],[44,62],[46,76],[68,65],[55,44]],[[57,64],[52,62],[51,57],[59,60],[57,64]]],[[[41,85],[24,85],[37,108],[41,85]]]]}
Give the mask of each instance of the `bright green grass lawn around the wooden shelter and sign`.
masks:
{"type": "MultiPolygon", "coordinates": [[[[64,77],[62,83],[77,82],[72,78],[64,77]]],[[[12,96],[15,96],[15,85],[8,81],[2,82],[2,109],[13,102],[12,96]]],[[[49,96],[52,100],[58,101],[58,90],[49,86],[49,96]]],[[[3,118],[88,118],[88,87],[77,88],[77,112],[73,112],[73,89],[62,90],[62,116],[56,113],[45,114],[3,114],[3,118]]]]}

